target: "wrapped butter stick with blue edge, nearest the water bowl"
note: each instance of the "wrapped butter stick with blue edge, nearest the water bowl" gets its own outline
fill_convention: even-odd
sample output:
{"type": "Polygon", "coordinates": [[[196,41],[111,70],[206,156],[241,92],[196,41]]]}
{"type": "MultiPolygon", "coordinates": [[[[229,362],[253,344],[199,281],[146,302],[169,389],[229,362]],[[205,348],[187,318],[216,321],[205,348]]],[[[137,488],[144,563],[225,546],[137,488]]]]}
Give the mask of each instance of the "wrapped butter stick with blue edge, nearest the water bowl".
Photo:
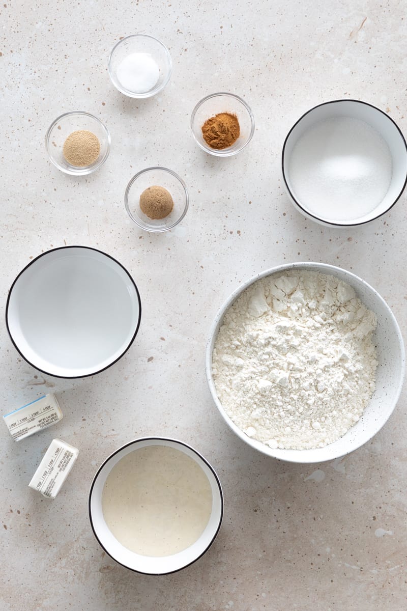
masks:
{"type": "Polygon", "coordinates": [[[21,441],[37,431],[62,419],[62,411],[55,395],[43,395],[22,408],[3,416],[3,420],[14,441],[21,441]]]}

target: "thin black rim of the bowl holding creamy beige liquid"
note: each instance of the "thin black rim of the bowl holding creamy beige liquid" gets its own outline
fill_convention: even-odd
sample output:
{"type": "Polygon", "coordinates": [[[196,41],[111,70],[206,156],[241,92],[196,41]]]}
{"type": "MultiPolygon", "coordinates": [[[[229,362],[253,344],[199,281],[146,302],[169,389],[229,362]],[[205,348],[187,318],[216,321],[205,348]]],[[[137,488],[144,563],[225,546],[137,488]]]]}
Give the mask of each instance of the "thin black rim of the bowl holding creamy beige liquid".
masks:
{"type": "Polygon", "coordinates": [[[92,530],[93,530],[93,534],[95,535],[96,541],[98,541],[98,543],[99,543],[99,546],[101,546],[101,548],[106,552],[106,554],[109,555],[109,557],[112,558],[115,562],[117,562],[118,565],[124,566],[124,568],[128,569],[129,571],[133,571],[133,573],[139,573],[141,575],[156,575],[156,576],[159,576],[159,575],[170,575],[171,573],[178,573],[178,571],[182,571],[183,569],[187,568],[187,566],[193,565],[197,560],[202,558],[203,555],[206,554],[206,552],[208,551],[209,547],[212,546],[212,543],[214,543],[215,539],[217,538],[217,535],[218,535],[218,532],[220,530],[220,527],[222,526],[223,509],[224,509],[224,501],[223,501],[222,486],[220,484],[220,480],[219,480],[219,478],[218,478],[218,476],[217,476],[217,474],[215,472],[214,467],[212,467],[212,465],[210,463],[208,463],[206,458],[204,458],[204,456],[202,456],[191,445],[185,444],[183,441],[179,441],[179,439],[173,439],[173,437],[139,437],[138,439],[133,439],[133,441],[129,441],[127,444],[122,445],[120,448],[115,450],[115,452],[110,454],[110,456],[107,456],[107,458],[103,461],[103,463],[101,464],[99,469],[96,471],[96,474],[95,474],[95,476],[93,477],[93,480],[92,480],[92,484],[90,485],[90,491],[89,491],[89,497],[88,497],[89,521],[90,521],[90,525],[91,525],[92,530]],[[199,456],[199,458],[206,464],[206,466],[209,467],[209,469],[211,470],[212,474],[214,475],[214,478],[216,480],[216,483],[217,483],[217,486],[218,486],[218,489],[219,489],[219,495],[220,495],[220,518],[219,518],[219,523],[218,523],[217,529],[216,529],[216,531],[214,533],[214,536],[212,537],[212,539],[209,542],[209,544],[205,547],[204,551],[199,556],[197,556],[194,560],[189,562],[187,565],[180,566],[179,569],[175,569],[174,571],[166,571],[165,573],[145,573],[144,571],[137,571],[137,569],[132,569],[130,566],[124,565],[122,562],[117,560],[117,558],[112,556],[112,554],[109,554],[109,552],[107,551],[106,547],[104,547],[103,543],[101,543],[101,540],[99,539],[99,537],[98,537],[98,535],[96,533],[95,527],[93,526],[92,511],[90,509],[90,503],[92,501],[93,488],[95,486],[97,478],[99,477],[99,473],[101,472],[101,470],[103,469],[105,464],[107,464],[109,462],[109,460],[111,458],[113,458],[113,456],[115,456],[118,452],[121,452],[122,450],[124,450],[124,448],[129,447],[129,445],[138,444],[140,441],[171,441],[171,442],[174,442],[175,444],[183,445],[185,448],[188,448],[189,450],[192,450],[192,452],[194,454],[196,454],[196,456],[199,456]]]}

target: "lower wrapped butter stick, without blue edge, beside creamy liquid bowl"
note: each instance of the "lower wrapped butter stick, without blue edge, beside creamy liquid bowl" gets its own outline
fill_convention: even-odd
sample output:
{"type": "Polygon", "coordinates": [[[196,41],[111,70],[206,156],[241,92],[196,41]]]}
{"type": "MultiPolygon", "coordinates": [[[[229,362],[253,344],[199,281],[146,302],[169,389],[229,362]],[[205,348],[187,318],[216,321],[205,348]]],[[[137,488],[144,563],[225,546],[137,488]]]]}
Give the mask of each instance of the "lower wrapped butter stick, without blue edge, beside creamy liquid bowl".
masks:
{"type": "Polygon", "coordinates": [[[66,444],[60,439],[52,439],[29,487],[41,492],[48,499],[55,499],[78,454],[79,450],[73,445],[66,444]]]}

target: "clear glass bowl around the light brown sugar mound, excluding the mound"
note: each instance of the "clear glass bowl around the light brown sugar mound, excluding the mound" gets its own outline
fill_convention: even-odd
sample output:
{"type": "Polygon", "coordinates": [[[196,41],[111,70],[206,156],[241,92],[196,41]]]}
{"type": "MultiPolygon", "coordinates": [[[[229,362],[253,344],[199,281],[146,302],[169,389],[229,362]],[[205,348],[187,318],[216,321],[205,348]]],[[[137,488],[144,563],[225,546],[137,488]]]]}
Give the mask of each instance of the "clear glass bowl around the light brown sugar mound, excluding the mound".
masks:
{"type": "Polygon", "coordinates": [[[132,177],[124,193],[124,205],[131,220],[142,229],[154,233],[167,231],[178,225],[187,213],[187,186],[178,174],[166,167],[147,167],[132,177]],[[151,186],[164,187],[173,198],[174,207],[164,219],[150,219],[140,208],[140,195],[151,186]]]}

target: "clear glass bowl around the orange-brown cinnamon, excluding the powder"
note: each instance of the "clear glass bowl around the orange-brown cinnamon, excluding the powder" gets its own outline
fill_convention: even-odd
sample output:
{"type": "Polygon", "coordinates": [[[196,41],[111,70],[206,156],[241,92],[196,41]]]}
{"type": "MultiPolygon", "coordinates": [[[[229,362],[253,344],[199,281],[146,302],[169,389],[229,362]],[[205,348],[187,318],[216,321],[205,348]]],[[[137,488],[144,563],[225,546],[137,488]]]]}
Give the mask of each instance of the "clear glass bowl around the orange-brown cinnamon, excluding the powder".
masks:
{"type": "Polygon", "coordinates": [[[196,143],[209,155],[228,157],[236,155],[249,144],[254,134],[254,117],[247,103],[234,93],[212,93],[203,98],[192,111],[191,129],[196,143]],[[220,112],[236,115],[240,126],[240,136],[228,148],[211,148],[203,139],[202,126],[207,119],[220,112]]]}

